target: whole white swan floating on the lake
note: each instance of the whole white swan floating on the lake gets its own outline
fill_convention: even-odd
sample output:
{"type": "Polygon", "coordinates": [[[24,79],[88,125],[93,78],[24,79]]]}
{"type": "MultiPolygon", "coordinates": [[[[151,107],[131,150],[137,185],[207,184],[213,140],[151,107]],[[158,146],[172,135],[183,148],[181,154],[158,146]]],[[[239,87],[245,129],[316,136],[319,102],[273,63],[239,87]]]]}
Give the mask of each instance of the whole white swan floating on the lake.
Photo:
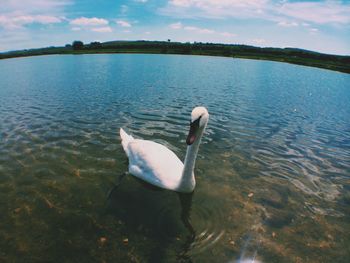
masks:
{"type": "Polygon", "coordinates": [[[185,164],[164,145],[134,139],[121,128],[122,146],[129,158],[129,173],[161,188],[182,193],[192,192],[196,185],[193,170],[208,120],[209,113],[206,108],[193,109],[190,131],[186,139],[188,146],[185,164]]]}

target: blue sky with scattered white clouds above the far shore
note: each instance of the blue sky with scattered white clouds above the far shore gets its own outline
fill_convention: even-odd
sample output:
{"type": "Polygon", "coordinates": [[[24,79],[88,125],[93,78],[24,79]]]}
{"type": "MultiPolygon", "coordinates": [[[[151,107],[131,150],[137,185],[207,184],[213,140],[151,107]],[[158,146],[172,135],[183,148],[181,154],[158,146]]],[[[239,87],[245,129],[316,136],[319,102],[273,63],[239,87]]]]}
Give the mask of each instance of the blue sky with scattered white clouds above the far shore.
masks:
{"type": "Polygon", "coordinates": [[[350,0],[0,0],[0,52],[168,39],[350,55],[350,0]]]}

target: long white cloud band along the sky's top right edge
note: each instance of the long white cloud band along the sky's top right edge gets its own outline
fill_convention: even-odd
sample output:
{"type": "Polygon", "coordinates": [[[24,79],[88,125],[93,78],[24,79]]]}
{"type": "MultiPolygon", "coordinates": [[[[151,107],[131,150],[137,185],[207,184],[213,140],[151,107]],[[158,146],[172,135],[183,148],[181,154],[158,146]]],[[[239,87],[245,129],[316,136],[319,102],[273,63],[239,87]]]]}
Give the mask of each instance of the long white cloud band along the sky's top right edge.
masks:
{"type": "Polygon", "coordinates": [[[293,19],[298,24],[350,23],[349,1],[169,0],[159,12],[177,18],[253,18],[275,22],[293,19]]]}

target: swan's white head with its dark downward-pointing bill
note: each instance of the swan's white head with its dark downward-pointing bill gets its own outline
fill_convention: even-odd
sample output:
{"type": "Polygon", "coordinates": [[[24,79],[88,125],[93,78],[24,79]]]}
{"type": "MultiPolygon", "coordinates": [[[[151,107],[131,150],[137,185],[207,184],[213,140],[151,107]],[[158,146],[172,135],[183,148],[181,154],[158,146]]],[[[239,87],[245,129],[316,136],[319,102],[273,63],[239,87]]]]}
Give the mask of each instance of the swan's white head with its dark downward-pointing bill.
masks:
{"type": "Polygon", "coordinates": [[[205,126],[209,121],[209,113],[204,107],[196,107],[191,113],[190,132],[188,133],[186,143],[191,145],[200,139],[205,126]]]}

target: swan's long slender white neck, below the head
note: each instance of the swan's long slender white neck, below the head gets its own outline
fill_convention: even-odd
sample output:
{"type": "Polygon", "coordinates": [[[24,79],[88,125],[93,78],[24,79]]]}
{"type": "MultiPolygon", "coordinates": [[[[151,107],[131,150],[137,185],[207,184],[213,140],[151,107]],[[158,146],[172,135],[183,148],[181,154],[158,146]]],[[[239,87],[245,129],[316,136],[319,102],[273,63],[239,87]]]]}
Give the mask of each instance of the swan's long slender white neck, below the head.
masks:
{"type": "Polygon", "coordinates": [[[194,166],[196,164],[196,158],[198,153],[199,144],[201,143],[204,128],[201,129],[200,134],[196,141],[187,146],[186,157],[184,161],[184,169],[182,172],[182,187],[189,188],[191,191],[196,185],[196,180],[194,178],[194,166]]]}

